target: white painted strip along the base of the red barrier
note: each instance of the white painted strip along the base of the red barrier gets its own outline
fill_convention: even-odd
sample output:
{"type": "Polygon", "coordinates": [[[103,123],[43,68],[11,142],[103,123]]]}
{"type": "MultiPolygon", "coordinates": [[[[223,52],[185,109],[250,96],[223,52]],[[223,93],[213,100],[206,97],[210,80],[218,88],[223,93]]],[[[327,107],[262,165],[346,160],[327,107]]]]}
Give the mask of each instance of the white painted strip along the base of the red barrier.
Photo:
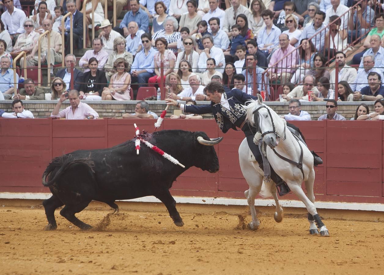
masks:
{"type": "MultiPolygon", "coordinates": [[[[0,199],[48,199],[51,193],[0,193],[0,199]]],[[[192,203],[192,204],[217,204],[217,205],[244,205],[247,206],[246,199],[230,199],[230,198],[205,198],[205,197],[174,197],[176,203],[192,203]],[[204,200],[204,201],[203,201],[204,200]]],[[[137,199],[126,199],[121,201],[134,201],[141,203],[161,203],[161,201],[153,196],[137,199]]],[[[279,200],[281,206],[304,208],[301,201],[279,200]]],[[[273,199],[256,199],[256,206],[274,206],[273,199]]],[[[380,203],[334,203],[325,201],[316,201],[316,208],[319,209],[342,209],[342,210],[362,210],[362,211],[379,211],[384,212],[384,204],[380,203]]]]}

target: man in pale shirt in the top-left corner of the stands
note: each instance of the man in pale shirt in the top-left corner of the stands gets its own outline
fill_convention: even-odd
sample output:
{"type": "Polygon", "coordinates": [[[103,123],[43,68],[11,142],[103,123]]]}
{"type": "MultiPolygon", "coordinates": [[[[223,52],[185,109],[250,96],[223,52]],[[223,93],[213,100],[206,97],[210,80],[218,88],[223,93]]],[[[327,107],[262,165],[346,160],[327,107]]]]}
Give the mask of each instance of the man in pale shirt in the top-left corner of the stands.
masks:
{"type": "Polygon", "coordinates": [[[24,32],[22,24],[26,15],[21,9],[13,5],[13,0],[4,0],[4,7],[7,8],[7,11],[1,15],[4,29],[8,30],[12,41],[16,41],[17,36],[24,32]]]}

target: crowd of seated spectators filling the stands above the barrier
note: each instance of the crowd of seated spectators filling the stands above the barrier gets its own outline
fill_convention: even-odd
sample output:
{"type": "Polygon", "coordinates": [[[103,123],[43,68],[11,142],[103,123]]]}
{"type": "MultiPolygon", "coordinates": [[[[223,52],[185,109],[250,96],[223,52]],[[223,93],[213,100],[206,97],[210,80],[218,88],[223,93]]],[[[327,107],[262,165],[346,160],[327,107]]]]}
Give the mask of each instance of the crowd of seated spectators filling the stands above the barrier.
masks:
{"type": "MultiPolygon", "coordinates": [[[[108,5],[112,3],[108,0],[108,5]]],[[[85,8],[79,0],[36,0],[30,15],[16,0],[4,0],[0,20],[0,99],[58,100],[52,115],[73,118],[84,116],[88,110],[88,105],[79,104],[79,100],[133,100],[132,87],[136,94],[138,87],[158,88],[161,83],[169,98],[209,100],[204,86],[219,81],[225,91],[240,89],[252,94],[264,90],[269,96],[272,87],[281,86],[280,101],[289,101],[296,109],[300,109],[300,101],[331,100],[326,101],[325,119],[339,119],[337,101],[384,98],[384,14],[375,12],[367,2],[349,9],[356,2],[117,0],[116,16],[127,4],[130,10],[113,26],[104,19],[106,11],[100,0],[89,1],[85,8]],[[83,40],[91,48],[78,61],[70,54],[70,17],[61,25],[67,12],[73,15],[74,48],[83,48],[83,40]],[[89,36],[92,21],[98,28],[93,40],[89,36]],[[50,48],[46,35],[38,43],[44,31],[50,32],[50,48]],[[356,69],[347,64],[346,53],[361,35],[367,36],[366,51],[354,56],[353,63],[359,64],[356,69]],[[25,60],[20,59],[20,68],[36,67],[39,61],[51,65],[51,92],[41,92],[37,83],[26,79],[24,88],[13,95],[19,76],[14,83],[17,71],[12,69],[12,56],[20,51],[27,53],[25,60]],[[54,74],[53,66],[62,62],[62,52],[65,68],[54,74]],[[326,68],[327,58],[334,58],[338,64],[337,77],[335,69],[326,68]],[[74,87],[70,87],[71,79],[74,87]],[[333,102],[335,86],[338,99],[333,102]],[[253,91],[254,87],[257,91],[253,91]],[[59,112],[67,98],[73,114],[68,108],[59,112]],[[81,115],[76,116],[73,109],[81,110],[81,115]]],[[[86,114],[97,118],[91,112],[86,114]]],[[[307,117],[300,114],[295,110],[286,117],[307,117]]]]}

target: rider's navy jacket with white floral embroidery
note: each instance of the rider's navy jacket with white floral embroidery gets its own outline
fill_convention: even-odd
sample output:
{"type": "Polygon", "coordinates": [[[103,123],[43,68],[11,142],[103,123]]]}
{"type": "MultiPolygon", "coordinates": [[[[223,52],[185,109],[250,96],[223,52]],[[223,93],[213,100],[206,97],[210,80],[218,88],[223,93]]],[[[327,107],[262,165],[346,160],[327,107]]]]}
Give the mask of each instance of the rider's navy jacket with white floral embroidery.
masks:
{"type": "Polygon", "coordinates": [[[190,105],[184,106],[184,112],[193,114],[210,114],[215,117],[218,127],[223,133],[226,133],[230,128],[237,130],[236,126],[240,126],[245,119],[245,102],[257,97],[251,96],[239,89],[233,89],[229,92],[223,92],[224,98],[228,100],[230,110],[225,108],[220,103],[211,102],[210,105],[190,105]]]}

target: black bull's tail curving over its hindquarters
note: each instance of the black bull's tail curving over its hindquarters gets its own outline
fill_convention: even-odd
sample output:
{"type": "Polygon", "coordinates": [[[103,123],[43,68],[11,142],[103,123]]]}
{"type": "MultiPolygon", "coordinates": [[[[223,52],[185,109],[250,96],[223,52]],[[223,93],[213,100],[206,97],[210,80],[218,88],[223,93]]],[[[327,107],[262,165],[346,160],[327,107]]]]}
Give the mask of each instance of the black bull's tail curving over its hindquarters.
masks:
{"type": "Polygon", "coordinates": [[[66,171],[77,165],[85,165],[94,173],[91,154],[87,158],[73,158],[71,154],[54,158],[43,173],[44,186],[51,186],[66,171]]]}

